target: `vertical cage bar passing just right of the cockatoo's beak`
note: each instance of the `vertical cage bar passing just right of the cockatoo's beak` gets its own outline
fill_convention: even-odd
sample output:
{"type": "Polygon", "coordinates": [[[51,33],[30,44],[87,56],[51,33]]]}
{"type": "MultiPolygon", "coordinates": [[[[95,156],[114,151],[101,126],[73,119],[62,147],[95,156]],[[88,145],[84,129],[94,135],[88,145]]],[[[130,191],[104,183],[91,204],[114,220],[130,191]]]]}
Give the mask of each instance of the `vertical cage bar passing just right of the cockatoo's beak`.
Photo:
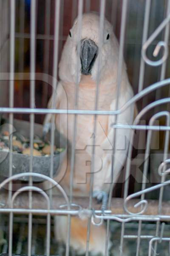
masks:
{"type": "MultiPolygon", "coordinates": [[[[100,82],[100,63],[101,63],[101,51],[103,43],[103,29],[105,21],[105,5],[106,1],[100,1],[100,21],[99,21],[99,55],[97,63],[97,81],[96,81],[96,96],[95,96],[95,106],[94,109],[98,109],[99,103],[99,82],[100,82]]],[[[95,141],[96,141],[96,128],[97,128],[97,115],[94,115],[94,129],[93,129],[93,147],[92,147],[92,156],[91,156],[91,176],[90,176],[90,194],[89,194],[89,205],[88,209],[92,208],[92,198],[93,198],[93,185],[94,185],[94,171],[95,171],[95,141]]],[[[88,256],[89,250],[89,239],[90,239],[90,227],[91,227],[91,217],[88,218],[88,230],[87,230],[87,244],[86,244],[86,256],[88,256]]]]}

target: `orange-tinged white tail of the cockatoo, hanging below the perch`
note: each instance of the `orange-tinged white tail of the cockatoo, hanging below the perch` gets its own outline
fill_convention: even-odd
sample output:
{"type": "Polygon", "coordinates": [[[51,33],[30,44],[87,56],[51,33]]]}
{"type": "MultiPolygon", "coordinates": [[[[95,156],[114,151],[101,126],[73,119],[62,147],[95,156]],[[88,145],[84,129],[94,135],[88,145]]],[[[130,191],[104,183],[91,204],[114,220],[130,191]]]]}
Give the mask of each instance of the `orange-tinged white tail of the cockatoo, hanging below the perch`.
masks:
{"type": "MultiPolygon", "coordinates": [[[[55,217],[55,237],[57,241],[67,242],[68,232],[68,218],[66,216],[55,217]]],[[[77,252],[77,254],[84,254],[86,252],[87,244],[87,231],[88,220],[82,220],[78,217],[71,218],[71,232],[70,232],[70,246],[77,252]]],[[[101,226],[94,226],[91,224],[90,229],[90,241],[89,252],[92,255],[105,255],[105,241],[106,241],[106,229],[105,224],[101,226]]],[[[109,239],[108,248],[111,247],[109,239]]]]}

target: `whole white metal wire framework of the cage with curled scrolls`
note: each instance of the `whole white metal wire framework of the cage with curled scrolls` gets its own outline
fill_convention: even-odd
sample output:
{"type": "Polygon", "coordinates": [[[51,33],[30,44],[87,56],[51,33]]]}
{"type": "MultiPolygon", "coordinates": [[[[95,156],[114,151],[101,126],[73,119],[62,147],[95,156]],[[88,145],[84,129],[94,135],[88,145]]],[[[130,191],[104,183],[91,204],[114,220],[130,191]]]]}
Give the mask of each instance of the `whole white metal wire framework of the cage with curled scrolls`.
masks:
{"type": "MultiPolygon", "coordinates": [[[[22,1],[21,1],[22,2],[22,1]]],[[[9,168],[9,178],[4,180],[0,184],[0,189],[3,188],[6,184],[8,184],[8,207],[1,207],[0,213],[9,213],[9,239],[8,239],[8,254],[9,256],[12,255],[12,230],[13,230],[13,220],[14,220],[14,213],[20,213],[20,214],[28,214],[28,256],[31,256],[32,253],[32,215],[33,214],[44,214],[47,216],[47,238],[46,238],[46,255],[50,255],[50,227],[51,227],[51,215],[67,215],[68,216],[68,237],[67,237],[67,245],[66,245],[66,256],[69,255],[69,244],[70,244],[70,225],[71,225],[71,216],[79,216],[80,212],[84,212],[88,216],[88,232],[87,232],[87,251],[86,256],[88,256],[88,241],[90,237],[90,224],[91,222],[94,225],[100,225],[102,224],[103,220],[107,221],[107,236],[105,241],[105,252],[107,255],[108,250],[108,238],[109,238],[109,226],[110,221],[119,221],[122,223],[122,230],[121,230],[121,237],[120,237],[120,256],[123,255],[123,244],[124,239],[136,239],[137,241],[137,247],[136,247],[136,256],[139,256],[139,249],[140,249],[140,242],[141,239],[148,239],[149,240],[149,251],[148,255],[156,255],[156,248],[157,248],[157,242],[161,241],[167,241],[170,242],[169,238],[164,237],[164,224],[161,224],[160,221],[170,221],[170,215],[162,215],[161,214],[161,207],[162,207],[162,196],[164,191],[164,186],[167,186],[170,184],[170,180],[166,180],[166,175],[170,173],[170,169],[167,169],[167,164],[169,163],[168,157],[168,148],[169,148],[169,132],[170,132],[170,113],[166,109],[164,111],[159,111],[158,113],[155,113],[152,118],[150,118],[148,125],[140,125],[139,121],[144,116],[145,113],[147,113],[151,109],[155,109],[156,107],[159,107],[160,105],[170,103],[170,97],[159,99],[158,95],[155,102],[152,102],[148,104],[146,107],[144,107],[139,114],[136,116],[136,119],[131,127],[127,125],[122,125],[117,123],[117,116],[125,111],[125,109],[132,104],[133,102],[137,102],[142,97],[146,96],[148,93],[153,92],[155,90],[161,89],[162,87],[170,84],[170,78],[165,79],[165,71],[166,71],[166,63],[167,63],[167,57],[168,57],[168,42],[169,42],[169,29],[170,29],[170,0],[167,0],[167,12],[166,17],[161,22],[161,24],[156,28],[156,30],[148,37],[148,28],[149,28],[149,17],[150,17],[150,9],[151,9],[151,0],[147,0],[145,3],[145,14],[144,14],[144,29],[143,29],[143,38],[142,38],[142,52],[141,52],[141,62],[140,62],[140,72],[139,72],[139,86],[138,86],[138,93],[130,99],[129,102],[127,102],[122,108],[118,108],[118,100],[116,104],[116,111],[98,111],[98,94],[99,94],[99,81],[96,84],[96,102],[95,102],[95,110],[78,110],[77,105],[77,99],[78,99],[78,76],[77,76],[77,90],[75,95],[75,108],[74,110],[59,110],[55,109],[55,101],[52,100],[52,108],[51,109],[38,109],[34,108],[34,101],[35,101],[35,81],[36,79],[43,79],[43,81],[49,81],[49,79],[52,80],[52,87],[53,87],[53,93],[56,90],[57,87],[57,65],[58,65],[58,48],[59,48],[59,20],[60,20],[60,8],[61,8],[61,1],[56,0],[55,1],[55,26],[54,26],[54,36],[50,35],[50,26],[49,26],[49,16],[48,12],[46,13],[46,33],[45,35],[37,35],[36,34],[36,0],[31,1],[31,32],[29,34],[24,33],[24,25],[20,25],[20,33],[15,33],[15,0],[10,0],[10,68],[9,73],[7,71],[0,73],[0,80],[8,80],[9,82],[9,107],[5,107],[3,104],[1,98],[0,98],[0,113],[6,113],[9,114],[9,120],[10,123],[13,124],[13,118],[14,113],[22,113],[22,114],[30,114],[30,123],[31,123],[31,130],[30,130],[30,138],[31,138],[31,152],[33,153],[33,139],[34,139],[34,115],[35,114],[45,114],[45,113],[52,113],[52,132],[51,132],[51,178],[46,177],[44,175],[40,175],[44,180],[48,180],[56,186],[57,189],[62,192],[63,197],[65,198],[65,207],[66,209],[62,209],[63,206],[61,206],[61,209],[51,209],[51,202],[53,200],[53,194],[52,190],[50,192],[50,195],[48,196],[44,191],[34,186],[32,182],[32,177],[38,176],[38,174],[34,174],[32,172],[32,161],[33,161],[33,155],[31,154],[30,157],[30,172],[25,173],[25,176],[29,177],[29,184],[28,186],[23,187],[22,189],[17,190],[12,195],[12,182],[19,178],[21,175],[12,175],[12,139],[11,139],[11,148],[10,148],[10,168],[9,168]],[[152,44],[152,42],[156,39],[157,35],[165,29],[164,33],[164,39],[156,44],[155,50],[153,52],[154,56],[157,56],[160,52],[160,49],[163,49],[163,55],[162,57],[157,61],[152,61],[147,57],[147,49],[152,44]],[[14,63],[15,63],[15,37],[20,38],[20,44],[23,46],[23,40],[22,38],[30,38],[31,48],[30,48],[30,74],[17,74],[17,77],[22,81],[24,79],[28,79],[28,76],[30,76],[30,90],[31,90],[31,96],[30,96],[30,108],[14,108],[14,63]],[[45,54],[48,55],[49,52],[49,40],[54,40],[54,62],[53,62],[53,76],[52,78],[50,76],[46,76],[42,74],[35,73],[35,63],[36,63],[36,40],[40,38],[45,40],[45,54]],[[144,71],[145,71],[145,65],[150,65],[152,67],[161,66],[161,77],[160,81],[157,81],[154,84],[151,84],[150,86],[144,88],[144,71]],[[133,145],[133,135],[131,137],[131,143],[129,145],[128,150],[128,158],[126,163],[126,172],[125,172],[125,189],[124,189],[124,212],[123,214],[112,214],[111,204],[112,204],[112,192],[113,192],[113,184],[111,184],[110,194],[109,194],[109,202],[108,202],[108,210],[102,211],[102,210],[95,210],[92,209],[92,191],[93,191],[93,173],[94,173],[94,154],[95,154],[95,146],[93,147],[93,154],[92,154],[92,165],[91,165],[91,192],[89,195],[89,204],[88,204],[88,211],[85,212],[84,209],[80,205],[73,204],[73,175],[74,175],[74,157],[75,157],[75,143],[72,144],[72,155],[71,155],[71,177],[70,177],[70,194],[69,198],[65,194],[65,191],[62,189],[62,187],[56,183],[52,179],[52,173],[53,173],[53,145],[54,145],[54,114],[74,114],[74,142],[76,138],[77,133],[77,116],[88,114],[88,115],[94,115],[94,134],[96,132],[96,120],[98,115],[115,115],[116,116],[116,122],[113,124],[113,131],[114,129],[134,129],[134,130],[148,130],[147,133],[147,145],[145,150],[145,162],[144,162],[144,171],[143,171],[143,180],[142,180],[142,189],[139,192],[135,192],[132,195],[128,195],[128,188],[129,188],[129,177],[130,177],[130,165],[131,165],[131,159],[132,159],[132,145],[133,145]],[[154,125],[155,120],[159,119],[161,116],[166,117],[166,125],[154,125]],[[161,176],[161,183],[152,186],[150,188],[146,188],[146,177],[147,177],[147,169],[148,169],[148,155],[150,154],[150,141],[152,137],[153,131],[164,131],[165,133],[165,142],[164,142],[164,159],[161,166],[159,166],[159,175],[161,176]],[[147,200],[145,199],[145,194],[149,193],[155,189],[160,189],[159,193],[159,206],[158,206],[158,213],[155,215],[145,215],[145,211],[147,209],[147,200]],[[28,209],[16,209],[14,208],[14,200],[17,196],[19,196],[20,193],[28,191],[29,194],[29,201],[28,201],[28,209]],[[47,202],[47,208],[46,209],[32,209],[32,193],[37,192],[40,193],[47,202]],[[131,212],[128,209],[128,201],[139,197],[140,200],[137,204],[134,205],[134,210],[136,207],[140,207],[140,209],[137,212],[131,212]],[[76,207],[76,209],[75,209],[76,207]],[[96,222],[96,219],[99,219],[100,222],[96,222]],[[138,234],[137,235],[126,235],[125,234],[125,223],[130,221],[139,221],[138,226],[138,234]],[[155,236],[150,235],[142,235],[141,229],[142,229],[142,221],[148,221],[148,222],[156,222],[156,233],[155,236]],[[161,226],[161,232],[159,233],[159,229],[161,226]],[[153,248],[153,242],[155,242],[154,246],[154,253],[152,254],[152,248],[153,248]]],[[[76,5],[76,1],[73,1],[73,6],[76,5]]],[[[78,38],[81,36],[81,26],[82,26],[82,12],[83,12],[83,0],[78,0],[78,23],[79,23],[79,29],[78,29],[78,38]]],[[[101,0],[100,5],[100,43],[102,44],[102,29],[103,29],[103,20],[105,15],[105,0],[101,0]]],[[[3,9],[3,0],[0,0],[0,11],[3,9]]],[[[23,1],[24,3],[24,1],[23,1]]],[[[114,3],[114,2],[113,2],[114,3]]],[[[46,0],[46,11],[50,10],[50,0],[46,0]]],[[[116,1],[117,4],[117,1],[116,1]]],[[[90,1],[86,1],[86,9],[90,9],[90,1]]],[[[63,6],[62,6],[63,7],[63,6]]],[[[75,16],[76,10],[73,9],[72,15],[75,16]]],[[[114,12],[114,8],[112,9],[112,12],[114,12]]],[[[126,28],[126,14],[127,14],[127,0],[122,0],[122,19],[121,19],[121,31],[120,31],[120,50],[119,50],[119,63],[118,63],[118,79],[117,79],[117,99],[119,99],[119,91],[120,91],[120,81],[121,81],[121,71],[122,71],[122,63],[123,63],[123,53],[124,53],[124,44],[125,44],[125,28],[126,28]]],[[[21,6],[20,9],[20,15],[22,15],[24,19],[24,5],[21,6]]],[[[113,20],[113,17],[112,17],[113,20]]],[[[7,26],[8,27],[8,26],[7,26]]],[[[7,31],[7,28],[5,28],[7,31]]],[[[0,29],[0,32],[3,32],[3,28],[0,29]]],[[[62,38],[64,40],[65,38],[62,38]]],[[[5,43],[4,43],[5,44],[5,43]]],[[[3,45],[4,46],[4,45],[3,45]]],[[[99,46],[100,48],[100,46],[99,46]]],[[[78,52],[80,50],[80,45],[78,45],[78,52]]],[[[23,48],[21,49],[22,55],[23,55],[23,48]]],[[[100,58],[100,55],[99,55],[100,58]]],[[[49,58],[45,58],[45,61],[47,60],[47,63],[44,65],[44,71],[45,73],[48,73],[49,69],[49,58]]],[[[4,62],[3,62],[4,63],[4,62]]],[[[100,61],[99,61],[100,63],[100,61]]],[[[77,60],[77,70],[79,70],[79,59],[77,60]]],[[[23,60],[21,58],[20,61],[20,72],[23,69],[23,60]]],[[[1,92],[1,91],[0,91],[1,92]]],[[[44,87],[44,92],[47,93],[46,88],[44,87]]],[[[12,132],[12,130],[11,130],[12,132]]],[[[113,138],[113,145],[115,143],[115,136],[113,138]]],[[[94,137],[94,143],[95,145],[95,137],[94,137]]],[[[112,154],[112,162],[114,161],[114,149],[112,154]]],[[[112,164],[112,172],[113,172],[113,164],[112,164]]],[[[114,174],[114,172],[113,172],[114,174]]],[[[114,201],[113,201],[114,203],[114,201]]],[[[21,232],[22,233],[22,232],[21,232]]],[[[20,251],[18,249],[18,251],[20,251]]]]}

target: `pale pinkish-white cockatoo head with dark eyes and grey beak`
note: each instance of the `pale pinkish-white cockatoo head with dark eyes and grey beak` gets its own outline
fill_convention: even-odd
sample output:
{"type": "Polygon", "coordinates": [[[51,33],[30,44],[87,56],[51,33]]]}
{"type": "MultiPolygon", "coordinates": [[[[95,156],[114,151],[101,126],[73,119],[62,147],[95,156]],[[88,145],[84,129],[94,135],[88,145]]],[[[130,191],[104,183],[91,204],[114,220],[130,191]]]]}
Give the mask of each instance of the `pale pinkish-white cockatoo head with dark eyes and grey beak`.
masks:
{"type": "MultiPolygon", "coordinates": [[[[100,17],[94,13],[82,16],[81,37],[78,19],[74,21],[65,43],[59,64],[59,77],[65,82],[78,82],[82,75],[90,75],[94,81],[102,80],[117,72],[119,46],[108,20],[104,20],[103,40],[99,42],[100,17]],[[78,51],[79,45],[79,51],[78,51]],[[99,58],[100,52],[100,58],[99,58]],[[79,61],[79,69],[77,63],[79,61]]],[[[114,76],[115,77],[115,76],[114,76]]]]}

